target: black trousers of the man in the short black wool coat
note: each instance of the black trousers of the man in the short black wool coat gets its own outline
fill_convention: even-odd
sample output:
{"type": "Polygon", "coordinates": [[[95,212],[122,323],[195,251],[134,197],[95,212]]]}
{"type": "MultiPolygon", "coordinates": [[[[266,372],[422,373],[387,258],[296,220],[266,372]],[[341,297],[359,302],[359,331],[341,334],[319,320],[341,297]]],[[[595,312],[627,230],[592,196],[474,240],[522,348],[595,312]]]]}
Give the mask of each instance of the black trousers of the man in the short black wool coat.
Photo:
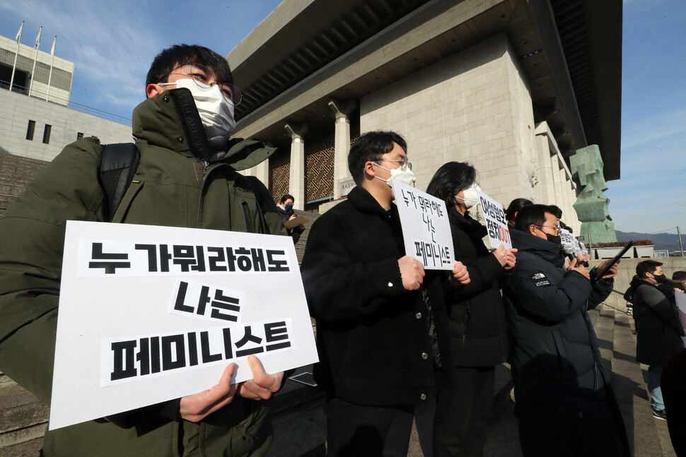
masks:
{"type": "Polygon", "coordinates": [[[406,457],[414,405],[364,406],[329,398],[327,456],[406,457]]]}

